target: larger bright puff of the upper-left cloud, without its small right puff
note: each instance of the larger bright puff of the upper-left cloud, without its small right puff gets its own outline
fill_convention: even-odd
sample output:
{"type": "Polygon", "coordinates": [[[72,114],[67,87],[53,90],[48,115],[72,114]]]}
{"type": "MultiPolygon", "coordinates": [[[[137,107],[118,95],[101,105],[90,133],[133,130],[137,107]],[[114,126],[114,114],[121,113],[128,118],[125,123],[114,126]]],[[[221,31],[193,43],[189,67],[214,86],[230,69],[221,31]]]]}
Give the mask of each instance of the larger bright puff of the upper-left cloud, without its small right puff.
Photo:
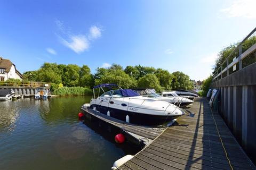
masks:
{"type": "Polygon", "coordinates": [[[89,48],[89,41],[83,35],[70,36],[69,40],[61,38],[61,43],[79,54],[89,48]]]}

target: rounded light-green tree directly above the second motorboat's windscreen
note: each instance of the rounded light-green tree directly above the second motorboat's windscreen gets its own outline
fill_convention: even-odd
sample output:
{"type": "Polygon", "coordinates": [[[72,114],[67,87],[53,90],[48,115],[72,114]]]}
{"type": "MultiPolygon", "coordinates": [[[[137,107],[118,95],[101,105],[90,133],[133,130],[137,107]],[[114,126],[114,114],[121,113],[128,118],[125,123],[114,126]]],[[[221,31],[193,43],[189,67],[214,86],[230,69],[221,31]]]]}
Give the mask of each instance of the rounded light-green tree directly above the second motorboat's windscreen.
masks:
{"type": "Polygon", "coordinates": [[[162,91],[159,80],[155,74],[146,74],[138,80],[139,88],[152,88],[156,91],[162,91]]]}

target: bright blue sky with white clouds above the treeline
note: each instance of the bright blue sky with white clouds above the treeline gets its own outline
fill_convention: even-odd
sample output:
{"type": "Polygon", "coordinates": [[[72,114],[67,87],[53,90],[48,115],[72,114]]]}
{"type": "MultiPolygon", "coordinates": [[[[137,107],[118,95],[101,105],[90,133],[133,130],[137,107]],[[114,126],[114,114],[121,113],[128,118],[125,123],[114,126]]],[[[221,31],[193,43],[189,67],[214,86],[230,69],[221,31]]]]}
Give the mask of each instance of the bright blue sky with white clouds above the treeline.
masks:
{"type": "Polygon", "coordinates": [[[256,1],[1,1],[0,56],[19,71],[44,62],[161,67],[203,80],[222,47],[254,27],[256,1]]]}

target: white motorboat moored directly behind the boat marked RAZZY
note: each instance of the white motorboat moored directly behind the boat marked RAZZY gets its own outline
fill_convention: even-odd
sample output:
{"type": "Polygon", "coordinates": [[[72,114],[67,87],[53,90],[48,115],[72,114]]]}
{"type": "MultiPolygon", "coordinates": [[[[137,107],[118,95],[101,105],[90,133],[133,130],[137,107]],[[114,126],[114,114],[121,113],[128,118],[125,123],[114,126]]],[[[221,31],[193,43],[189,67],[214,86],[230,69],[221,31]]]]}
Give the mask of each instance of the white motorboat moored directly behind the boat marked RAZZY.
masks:
{"type": "Polygon", "coordinates": [[[137,88],[137,89],[133,89],[133,91],[137,92],[141,96],[154,98],[156,100],[161,100],[161,101],[167,101],[167,102],[177,105],[181,108],[185,108],[189,104],[194,102],[193,100],[183,98],[178,95],[175,97],[174,96],[163,97],[163,96],[157,94],[155,89],[137,88]]]}

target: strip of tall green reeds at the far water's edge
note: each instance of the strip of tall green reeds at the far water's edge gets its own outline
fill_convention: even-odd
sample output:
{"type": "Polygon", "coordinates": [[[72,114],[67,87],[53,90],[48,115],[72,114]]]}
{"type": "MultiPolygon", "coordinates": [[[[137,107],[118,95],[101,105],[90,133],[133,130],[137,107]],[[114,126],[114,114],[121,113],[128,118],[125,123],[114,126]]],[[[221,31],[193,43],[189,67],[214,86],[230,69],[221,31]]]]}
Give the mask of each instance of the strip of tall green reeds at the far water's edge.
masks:
{"type": "Polygon", "coordinates": [[[86,87],[61,87],[55,89],[52,94],[60,96],[83,96],[91,95],[92,90],[86,87]]]}

